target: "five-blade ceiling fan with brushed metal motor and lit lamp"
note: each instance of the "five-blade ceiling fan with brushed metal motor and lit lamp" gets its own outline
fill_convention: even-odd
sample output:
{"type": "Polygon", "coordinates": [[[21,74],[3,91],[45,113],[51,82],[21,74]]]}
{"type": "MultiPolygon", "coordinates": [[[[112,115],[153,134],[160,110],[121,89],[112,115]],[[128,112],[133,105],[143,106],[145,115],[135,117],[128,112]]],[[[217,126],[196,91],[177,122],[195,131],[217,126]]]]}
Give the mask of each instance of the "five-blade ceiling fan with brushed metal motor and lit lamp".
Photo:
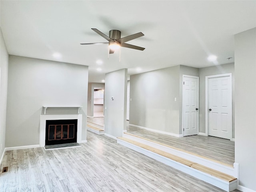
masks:
{"type": "Polygon", "coordinates": [[[112,54],[115,52],[116,49],[121,47],[136,49],[143,51],[145,48],[138,47],[135,45],[127,44],[125,42],[139,38],[141,36],[144,36],[142,32],[129,35],[126,37],[121,38],[121,32],[119,30],[110,30],[109,36],[106,36],[104,33],[100,32],[98,29],[92,28],[93,31],[98,33],[100,36],[108,40],[108,42],[102,42],[102,43],[80,43],[81,45],[92,45],[92,44],[109,44],[109,54],[112,54]]]}

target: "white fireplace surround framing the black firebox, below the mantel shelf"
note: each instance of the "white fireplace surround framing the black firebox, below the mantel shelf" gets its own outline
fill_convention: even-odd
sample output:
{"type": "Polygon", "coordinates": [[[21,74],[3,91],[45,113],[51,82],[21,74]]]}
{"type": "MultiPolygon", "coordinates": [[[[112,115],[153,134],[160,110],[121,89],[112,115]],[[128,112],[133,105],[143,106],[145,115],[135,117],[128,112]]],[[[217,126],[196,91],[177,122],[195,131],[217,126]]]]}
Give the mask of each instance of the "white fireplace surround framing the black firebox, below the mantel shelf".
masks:
{"type": "Polygon", "coordinates": [[[45,146],[45,134],[46,134],[46,120],[63,120],[63,119],[77,119],[77,140],[81,143],[82,140],[82,114],[67,114],[67,115],[40,115],[40,134],[39,145],[45,146]]]}

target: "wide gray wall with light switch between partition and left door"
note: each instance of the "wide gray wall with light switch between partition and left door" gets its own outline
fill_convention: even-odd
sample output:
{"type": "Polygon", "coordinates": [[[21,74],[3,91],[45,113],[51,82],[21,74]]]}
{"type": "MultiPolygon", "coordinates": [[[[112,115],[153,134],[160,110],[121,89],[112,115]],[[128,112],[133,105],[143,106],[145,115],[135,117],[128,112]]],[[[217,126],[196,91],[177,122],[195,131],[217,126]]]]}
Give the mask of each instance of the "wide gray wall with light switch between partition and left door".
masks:
{"type": "Polygon", "coordinates": [[[179,82],[180,66],[130,76],[129,123],[179,134],[179,82]]]}

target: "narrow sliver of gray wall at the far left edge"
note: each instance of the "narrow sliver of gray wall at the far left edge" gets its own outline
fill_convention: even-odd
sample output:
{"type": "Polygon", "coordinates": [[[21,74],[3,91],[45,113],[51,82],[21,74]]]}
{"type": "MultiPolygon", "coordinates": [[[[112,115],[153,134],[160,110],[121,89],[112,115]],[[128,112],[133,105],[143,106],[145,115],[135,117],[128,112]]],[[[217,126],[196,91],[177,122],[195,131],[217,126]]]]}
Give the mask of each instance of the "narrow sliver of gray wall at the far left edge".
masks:
{"type": "Polygon", "coordinates": [[[7,103],[7,82],[8,82],[8,61],[9,54],[6,49],[2,30],[0,29],[0,158],[5,148],[6,133],[6,103],[7,103]]]}

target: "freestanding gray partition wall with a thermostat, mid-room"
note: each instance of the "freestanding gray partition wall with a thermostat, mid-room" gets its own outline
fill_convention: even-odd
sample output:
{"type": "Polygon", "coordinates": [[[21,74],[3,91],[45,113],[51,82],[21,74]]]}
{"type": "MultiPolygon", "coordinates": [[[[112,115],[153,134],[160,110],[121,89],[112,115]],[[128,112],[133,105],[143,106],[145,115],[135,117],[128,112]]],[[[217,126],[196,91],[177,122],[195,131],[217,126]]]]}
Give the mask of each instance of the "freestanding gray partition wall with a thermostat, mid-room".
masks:
{"type": "Polygon", "coordinates": [[[120,137],[126,130],[127,69],[105,76],[105,133],[120,137]],[[112,100],[112,97],[114,100],[112,100]]]}

